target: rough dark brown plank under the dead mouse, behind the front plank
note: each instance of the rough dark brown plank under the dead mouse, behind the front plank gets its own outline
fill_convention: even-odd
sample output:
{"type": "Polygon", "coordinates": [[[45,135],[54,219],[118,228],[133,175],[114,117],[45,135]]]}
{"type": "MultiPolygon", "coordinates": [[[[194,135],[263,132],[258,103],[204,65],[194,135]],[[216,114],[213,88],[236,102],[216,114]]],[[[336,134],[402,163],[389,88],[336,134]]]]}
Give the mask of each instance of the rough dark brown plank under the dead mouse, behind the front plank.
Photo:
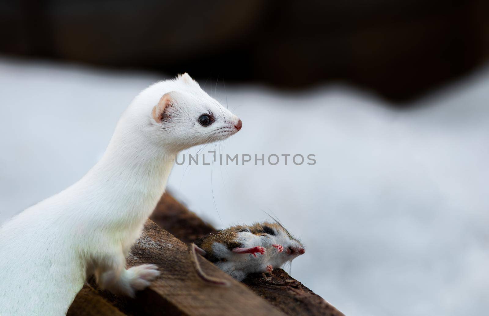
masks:
{"type": "MultiPolygon", "coordinates": [[[[205,223],[169,194],[161,197],[151,218],[160,227],[187,243],[195,241],[199,236],[216,231],[214,227],[205,223]]],[[[244,280],[244,284],[258,296],[263,297],[284,314],[290,316],[343,315],[333,305],[282,269],[275,269],[269,275],[249,275],[244,280]]]]}

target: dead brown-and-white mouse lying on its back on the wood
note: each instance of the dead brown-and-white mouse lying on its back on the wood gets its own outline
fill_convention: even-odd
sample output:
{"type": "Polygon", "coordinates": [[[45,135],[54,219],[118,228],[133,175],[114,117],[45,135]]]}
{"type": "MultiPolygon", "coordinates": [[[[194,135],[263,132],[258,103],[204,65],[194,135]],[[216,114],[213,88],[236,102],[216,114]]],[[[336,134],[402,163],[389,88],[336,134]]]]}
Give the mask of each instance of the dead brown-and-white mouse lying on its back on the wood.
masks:
{"type": "MultiPolygon", "coordinates": [[[[233,226],[201,238],[192,247],[194,253],[200,253],[238,281],[250,273],[272,272],[306,252],[304,245],[279,222],[233,226]]],[[[225,285],[225,281],[206,276],[198,264],[196,268],[205,281],[225,285]]]]}

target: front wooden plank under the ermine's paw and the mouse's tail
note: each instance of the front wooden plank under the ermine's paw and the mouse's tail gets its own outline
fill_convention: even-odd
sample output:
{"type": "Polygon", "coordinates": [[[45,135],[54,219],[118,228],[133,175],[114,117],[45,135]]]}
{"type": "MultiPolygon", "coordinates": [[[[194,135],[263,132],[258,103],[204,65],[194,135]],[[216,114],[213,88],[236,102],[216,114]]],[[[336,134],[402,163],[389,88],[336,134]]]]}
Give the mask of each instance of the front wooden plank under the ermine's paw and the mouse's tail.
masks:
{"type": "Polygon", "coordinates": [[[226,279],[230,286],[205,283],[197,276],[187,246],[148,220],[127,258],[128,267],[153,263],[161,275],[152,285],[138,292],[135,299],[99,293],[127,315],[284,315],[244,284],[199,256],[206,274],[226,279]]]}

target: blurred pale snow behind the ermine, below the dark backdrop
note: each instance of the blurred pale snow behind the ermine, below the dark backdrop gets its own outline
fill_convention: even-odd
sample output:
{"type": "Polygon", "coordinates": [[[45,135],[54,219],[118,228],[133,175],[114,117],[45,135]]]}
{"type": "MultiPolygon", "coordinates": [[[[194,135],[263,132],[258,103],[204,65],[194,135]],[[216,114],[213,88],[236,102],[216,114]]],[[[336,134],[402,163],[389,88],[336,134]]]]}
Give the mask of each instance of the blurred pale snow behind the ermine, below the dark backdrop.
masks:
{"type": "MultiPolygon", "coordinates": [[[[159,79],[0,59],[0,222],[81,178],[133,97],[159,79]]],[[[306,245],[291,275],[346,315],[487,314],[489,67],[409,110],[340,85],[224,91],[209,80],[205,90],[243,129],[204,153],[317,163],[175,166],[169,191],[191,210],[217,227],[273,211],[306,245]]]]}

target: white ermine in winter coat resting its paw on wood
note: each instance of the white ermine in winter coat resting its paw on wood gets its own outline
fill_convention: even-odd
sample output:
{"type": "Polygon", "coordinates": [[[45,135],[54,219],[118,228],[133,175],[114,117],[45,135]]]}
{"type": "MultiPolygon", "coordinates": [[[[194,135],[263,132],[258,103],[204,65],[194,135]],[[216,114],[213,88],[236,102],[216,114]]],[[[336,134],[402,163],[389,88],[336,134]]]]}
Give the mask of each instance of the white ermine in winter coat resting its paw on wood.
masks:
{"type": "Polygon", "coordinates": [[[122,114],[78,182],[0,228],[0,315],[65,315],[86,278],[134,296],[159,272],[126,256],[163,194],[179,151],[228,138],[242,122],[188,74],[157,82],[122,114]]]}

